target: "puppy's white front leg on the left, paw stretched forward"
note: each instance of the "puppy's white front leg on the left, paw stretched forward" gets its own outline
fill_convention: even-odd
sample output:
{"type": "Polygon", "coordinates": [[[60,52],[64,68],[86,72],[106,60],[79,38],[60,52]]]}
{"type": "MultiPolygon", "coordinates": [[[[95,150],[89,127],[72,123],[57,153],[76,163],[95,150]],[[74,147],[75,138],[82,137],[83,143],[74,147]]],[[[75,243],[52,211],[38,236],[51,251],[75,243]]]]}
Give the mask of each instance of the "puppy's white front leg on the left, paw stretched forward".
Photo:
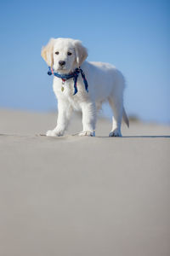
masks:
{"type": "Polygon", "coordinates": [[[72,107],[68,102],[58,101],[58,119],[54,130],[47,131],[46,136],[63,136],[71,118],[72,107]]]}

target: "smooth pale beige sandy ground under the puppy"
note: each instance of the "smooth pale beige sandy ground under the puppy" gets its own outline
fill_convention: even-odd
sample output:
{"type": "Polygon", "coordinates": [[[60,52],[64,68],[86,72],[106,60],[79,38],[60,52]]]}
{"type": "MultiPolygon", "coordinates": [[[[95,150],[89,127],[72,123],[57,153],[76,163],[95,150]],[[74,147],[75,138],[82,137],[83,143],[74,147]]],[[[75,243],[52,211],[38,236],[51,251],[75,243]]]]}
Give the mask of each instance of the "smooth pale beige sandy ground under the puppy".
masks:
{"type": "Polygon", "coordinates": [[[74,118],[0,110],[0,256],[170,255],[170,127],[132,123],[96,137],[74,118]]]}

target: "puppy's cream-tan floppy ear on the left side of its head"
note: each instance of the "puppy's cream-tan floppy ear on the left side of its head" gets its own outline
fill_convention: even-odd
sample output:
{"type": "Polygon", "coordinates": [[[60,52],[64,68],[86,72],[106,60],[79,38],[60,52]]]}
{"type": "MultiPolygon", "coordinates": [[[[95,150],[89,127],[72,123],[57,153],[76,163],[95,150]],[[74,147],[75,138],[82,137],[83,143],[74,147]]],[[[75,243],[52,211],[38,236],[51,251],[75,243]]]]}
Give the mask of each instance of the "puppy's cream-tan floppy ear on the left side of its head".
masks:
{"type": "Polygon", "coordinates": [[[54,65],[54,38],[51,38],[46,46],[42,47],[42,58],[48,63],[48,66],[53,67],[54,65]]]}

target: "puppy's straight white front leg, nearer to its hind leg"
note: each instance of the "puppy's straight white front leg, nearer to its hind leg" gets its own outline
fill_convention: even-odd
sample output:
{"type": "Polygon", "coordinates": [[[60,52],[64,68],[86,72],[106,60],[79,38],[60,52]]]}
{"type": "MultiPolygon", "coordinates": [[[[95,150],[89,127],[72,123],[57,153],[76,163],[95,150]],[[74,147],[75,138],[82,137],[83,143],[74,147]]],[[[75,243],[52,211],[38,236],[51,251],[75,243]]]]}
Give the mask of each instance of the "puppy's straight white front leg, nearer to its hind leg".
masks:
{"type": "Polygon", "coordinates": [[[82,126],[83,131],[79,136],[95,136],[96,107],[93,102],[82,103],[82,126]]]}

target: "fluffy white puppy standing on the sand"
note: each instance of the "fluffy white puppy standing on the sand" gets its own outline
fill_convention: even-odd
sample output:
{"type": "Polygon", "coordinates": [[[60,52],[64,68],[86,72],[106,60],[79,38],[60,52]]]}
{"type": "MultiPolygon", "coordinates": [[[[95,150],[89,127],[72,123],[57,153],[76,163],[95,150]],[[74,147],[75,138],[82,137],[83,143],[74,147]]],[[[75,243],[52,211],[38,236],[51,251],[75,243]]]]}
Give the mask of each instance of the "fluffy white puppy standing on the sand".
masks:
{"type": "Polygon", "coordinates": [[[82,43],[71,38],[52,38],[42,48],[42,58],[54,74],[53,88],[59,111],[57,125],[54,130],[47,131],[47,136],[64,135],[74,109],[82,111],[83,130],[79,135],[95,136],[96,112],[105,101],[110,103],[114,113],[109,136],[122,136],[122,118],[129,125],[123,108],[125,81],[122,73],[111,64],[85,61],[87,56],[88,51],[82,43]],[[85,79],[80,69],[77,69],[79,67],[85,79]],[[68,79],[67,75],[71,75],[71,78],[68,79]]]}

